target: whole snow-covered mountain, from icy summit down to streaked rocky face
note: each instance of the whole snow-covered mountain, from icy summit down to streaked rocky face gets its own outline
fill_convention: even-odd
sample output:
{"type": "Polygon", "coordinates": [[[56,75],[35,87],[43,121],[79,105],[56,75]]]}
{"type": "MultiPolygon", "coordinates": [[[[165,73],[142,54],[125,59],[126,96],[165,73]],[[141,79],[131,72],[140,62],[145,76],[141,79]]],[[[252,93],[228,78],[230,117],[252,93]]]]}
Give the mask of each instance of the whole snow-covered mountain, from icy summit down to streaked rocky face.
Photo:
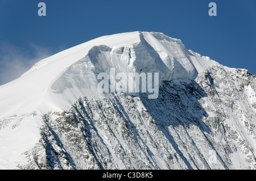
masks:
{"type": "Polygon", "coordinates": [[[159,32],[102,36],[0,86],[0,169],[256,169],[256,76],[159,32]],[[159,96],[97,75],[159,73],[159,96]]]}

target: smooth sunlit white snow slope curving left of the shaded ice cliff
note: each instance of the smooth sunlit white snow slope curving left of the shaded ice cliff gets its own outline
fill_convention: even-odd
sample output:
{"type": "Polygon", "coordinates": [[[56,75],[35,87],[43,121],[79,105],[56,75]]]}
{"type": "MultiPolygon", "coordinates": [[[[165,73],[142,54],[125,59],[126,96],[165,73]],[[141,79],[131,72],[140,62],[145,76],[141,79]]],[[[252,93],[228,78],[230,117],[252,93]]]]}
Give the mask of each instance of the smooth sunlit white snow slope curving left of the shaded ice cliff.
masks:
{"type": "MultiPolygon", "coordinates": [[[[129,47],[139,41],[137,35],[138,32],[132,32],[100,37],[39,61],[20,78],[0,86],[1,117],[32,110],[44,112],[58,109],[53,103],[56,99],[55,95],[51,94],[51,84],[61,73],[85,57],[92,47],[102,44],[109,47],[129,47]]],[[[60,108],[64,108],[61,106],[60,108]]]]}

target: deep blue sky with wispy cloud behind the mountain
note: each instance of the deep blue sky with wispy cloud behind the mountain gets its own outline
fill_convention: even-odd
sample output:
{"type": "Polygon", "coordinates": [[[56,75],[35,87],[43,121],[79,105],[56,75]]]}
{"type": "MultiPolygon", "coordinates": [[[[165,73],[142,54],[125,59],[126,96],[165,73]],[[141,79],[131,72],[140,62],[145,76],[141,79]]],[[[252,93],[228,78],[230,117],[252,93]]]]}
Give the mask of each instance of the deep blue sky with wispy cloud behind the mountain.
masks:
{"type": "Polygon", "coordinates": [[[255,0],[0,0],[0,85],[96,37],[162,32],[222,65],[256,74],[255,0]],[[46,15],[38,16],[38,3],[46,15]],[[210,2],[217,16],[209,16],[210,2]]]}

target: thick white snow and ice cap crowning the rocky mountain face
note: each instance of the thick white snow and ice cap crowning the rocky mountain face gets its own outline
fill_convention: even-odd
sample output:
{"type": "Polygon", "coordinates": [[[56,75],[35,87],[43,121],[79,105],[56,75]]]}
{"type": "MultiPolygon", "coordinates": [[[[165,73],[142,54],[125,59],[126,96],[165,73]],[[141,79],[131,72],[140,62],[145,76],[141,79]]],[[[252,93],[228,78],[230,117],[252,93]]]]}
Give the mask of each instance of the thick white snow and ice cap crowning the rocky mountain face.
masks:
{"type": "Polygon", "coordinates": [[[160,81],[196,78],[218,65],[190,52],[181,43],[157,32],[102,36],[64,50],[35,64],[20,78],[0,86],[0,117],[26,112],[67,109],[79,96],[99,94],[97,74],[110,68],[129,72],[158,72],[160,81]]]}

